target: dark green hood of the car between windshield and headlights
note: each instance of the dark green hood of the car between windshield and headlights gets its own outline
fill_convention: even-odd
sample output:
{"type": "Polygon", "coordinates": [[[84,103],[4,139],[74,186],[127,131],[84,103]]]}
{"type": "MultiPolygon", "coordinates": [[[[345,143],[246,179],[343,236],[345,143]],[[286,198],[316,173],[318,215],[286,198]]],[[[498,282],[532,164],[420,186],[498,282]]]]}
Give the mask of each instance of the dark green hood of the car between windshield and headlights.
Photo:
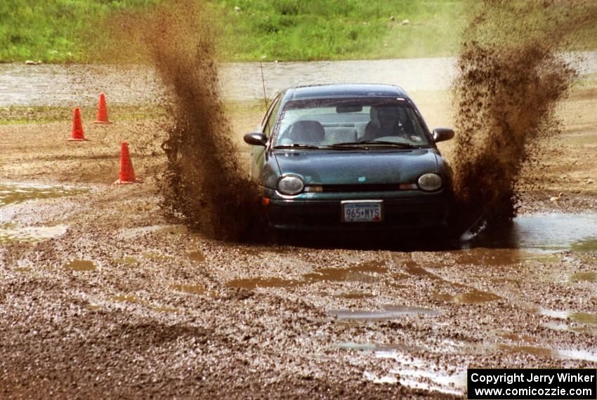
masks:
{"type": "Polygon", "coordinates": [[[416,182],[438,173],[435,149],[277,151],[281,174],[299,175],[307,184],[349,185],[416,182]]]}

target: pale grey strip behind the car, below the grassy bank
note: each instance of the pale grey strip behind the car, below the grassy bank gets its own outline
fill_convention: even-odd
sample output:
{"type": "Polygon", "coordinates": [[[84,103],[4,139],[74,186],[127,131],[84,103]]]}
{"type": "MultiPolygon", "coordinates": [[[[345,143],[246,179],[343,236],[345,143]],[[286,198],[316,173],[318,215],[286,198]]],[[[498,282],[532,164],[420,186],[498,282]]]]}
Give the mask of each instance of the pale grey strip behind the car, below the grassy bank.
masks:
{"type": "MultiPolygon", "coordinates": [[[[597,72],[597,52],[582,53],[582,74],[597,72]]],[[[566,57],[570,58],[570,55],[566,57]]],[[[224,63],[221,93],[228,100],[263,98],[257,62],[224,63]]],[[[456,76],[455,58],[350,60],[320,62],[263,62],[268,97],[284,88],[304,84],[395,84],[406,91],[450,88],[456,76]]],[[[152,69],[139,65],[17,65],[0,64],[0,107],[9,105],[95,105],[97,93],[110,102],[145,104],[161,89],[152,69]],[[77,76],[74,81],[70,76],[77,76]]]]}

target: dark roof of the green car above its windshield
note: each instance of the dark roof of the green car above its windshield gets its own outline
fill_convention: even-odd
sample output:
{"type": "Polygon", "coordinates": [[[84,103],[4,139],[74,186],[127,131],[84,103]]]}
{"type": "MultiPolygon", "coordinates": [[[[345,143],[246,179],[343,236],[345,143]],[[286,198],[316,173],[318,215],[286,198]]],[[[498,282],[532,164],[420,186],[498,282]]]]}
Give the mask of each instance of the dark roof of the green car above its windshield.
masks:
{"type": "Polygon", "coordinates": [[[286,100],[360,97],[409,99],[406,92],[398,86],[376,84],[296,86],[294,88],[287,89],[287,93],[284,95],[286,100]]]}

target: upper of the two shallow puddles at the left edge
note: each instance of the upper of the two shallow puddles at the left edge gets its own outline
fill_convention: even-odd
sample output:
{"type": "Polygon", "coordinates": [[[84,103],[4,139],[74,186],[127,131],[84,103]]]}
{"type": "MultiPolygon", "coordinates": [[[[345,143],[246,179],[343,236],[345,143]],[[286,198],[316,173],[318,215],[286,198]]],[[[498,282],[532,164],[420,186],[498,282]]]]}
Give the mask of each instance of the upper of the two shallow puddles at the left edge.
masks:
{"type": "Polygon", "coordinates": [[[62,185],[40,185],[37,183],[0,182],[0,206],[22,203],[28,200],[53,199],[88,192],[62,185]]]}

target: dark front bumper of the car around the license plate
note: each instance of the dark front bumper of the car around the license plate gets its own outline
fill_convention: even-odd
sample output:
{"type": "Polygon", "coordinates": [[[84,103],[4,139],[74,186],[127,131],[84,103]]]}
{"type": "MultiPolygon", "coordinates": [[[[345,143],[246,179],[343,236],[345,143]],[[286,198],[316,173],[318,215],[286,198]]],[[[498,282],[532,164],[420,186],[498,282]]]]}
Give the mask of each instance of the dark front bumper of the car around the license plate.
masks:
{"type": "MultiPolygon", "coordinates": [[[[360,199],[362,194],[359,194],[360,199]]],[[[445,193],[408,196],[406,198],[369,199],[383,200],[383,220],[381,222],[343,222],[342,200],[353,200],[352,196],[343,199],[298,200],[269,199],[263,206],[270,226],[281,230],[317,231],[429,231],[447,228],[448,201],[445,193]]]]}

